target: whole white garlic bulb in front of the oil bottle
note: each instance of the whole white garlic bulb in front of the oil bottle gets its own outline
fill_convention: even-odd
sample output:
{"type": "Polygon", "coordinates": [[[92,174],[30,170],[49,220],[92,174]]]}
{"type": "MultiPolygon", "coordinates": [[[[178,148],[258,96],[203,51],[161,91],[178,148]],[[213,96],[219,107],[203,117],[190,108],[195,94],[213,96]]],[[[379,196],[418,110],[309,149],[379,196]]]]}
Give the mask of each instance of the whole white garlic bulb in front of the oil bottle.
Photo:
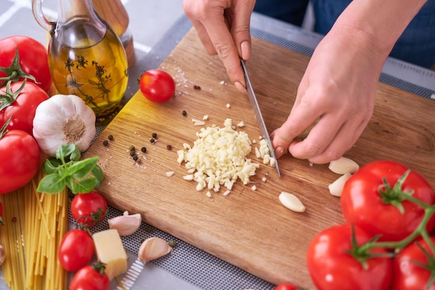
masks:
{"type": "Polygon", "coordinates": [[[72,143],[83,152],[95,133],[95,113],[76,95],[54,95],[36,108],[33,136],[49,156],[56,156],[60,145],[72,143]]]}

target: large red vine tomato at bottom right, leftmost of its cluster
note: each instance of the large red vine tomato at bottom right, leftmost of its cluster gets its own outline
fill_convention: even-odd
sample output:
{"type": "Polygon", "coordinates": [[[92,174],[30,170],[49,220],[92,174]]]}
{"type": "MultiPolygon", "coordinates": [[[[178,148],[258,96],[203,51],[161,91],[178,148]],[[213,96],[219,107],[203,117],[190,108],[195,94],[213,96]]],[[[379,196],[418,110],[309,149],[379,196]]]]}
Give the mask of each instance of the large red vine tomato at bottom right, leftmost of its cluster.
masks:
{"type": "MultiPolygon", "coordinates": [[[[359,245],[372,236],[360,227],[354,227],[359,245]]],[[[315,286],[319,290],[386,290],[391,284],[390,258],[367,259],[368,268],[347,251],[352,249],[351,225],[336,225],[316,234],[306,252],[306,264],[315,286]]],[[[369,252],[386,252],[374,248],[369,252]]]]}

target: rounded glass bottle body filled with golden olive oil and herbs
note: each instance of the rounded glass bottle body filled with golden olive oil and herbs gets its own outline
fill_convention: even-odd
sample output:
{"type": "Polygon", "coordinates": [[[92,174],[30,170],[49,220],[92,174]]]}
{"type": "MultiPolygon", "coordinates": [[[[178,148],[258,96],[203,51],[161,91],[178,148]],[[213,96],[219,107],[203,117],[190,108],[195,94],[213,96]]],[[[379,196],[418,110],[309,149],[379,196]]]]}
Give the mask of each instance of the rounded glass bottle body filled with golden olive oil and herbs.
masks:
{"type": "Polygon", "coordinates": [[[99,122],[120,110],[128,83],[128,63],[120,39],[109,26],[80,17],[52,32],[49,67],[60,94],[78,95],[99,122]]]}

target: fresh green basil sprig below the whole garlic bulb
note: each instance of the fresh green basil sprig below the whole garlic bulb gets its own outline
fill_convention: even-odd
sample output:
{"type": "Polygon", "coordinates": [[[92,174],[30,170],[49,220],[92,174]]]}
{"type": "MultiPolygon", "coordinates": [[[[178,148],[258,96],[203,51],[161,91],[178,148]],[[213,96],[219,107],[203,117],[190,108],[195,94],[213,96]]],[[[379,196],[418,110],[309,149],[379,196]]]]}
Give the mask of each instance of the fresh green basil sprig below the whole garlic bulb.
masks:
{"type": "Polygon", "coordinates": [[[88,193],[103,180],[103,170],[98,166],[99,157],[80,160],[81,154],[74,144],[60,145],[56,157],[47,159],[42,167],[46,174],[38,184],[40,193],[56,194],[65,186],[72,193],[88,193]]]}

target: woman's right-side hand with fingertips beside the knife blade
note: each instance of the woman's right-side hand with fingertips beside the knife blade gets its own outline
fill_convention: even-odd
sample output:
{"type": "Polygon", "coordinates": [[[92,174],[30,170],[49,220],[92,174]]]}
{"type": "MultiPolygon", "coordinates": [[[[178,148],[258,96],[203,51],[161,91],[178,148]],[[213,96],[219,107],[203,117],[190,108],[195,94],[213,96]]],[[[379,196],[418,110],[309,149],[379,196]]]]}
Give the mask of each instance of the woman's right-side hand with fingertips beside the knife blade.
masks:
{"type": "Polygon", "coordinates": [[[331,31],[315,49],[288,119],[272,133],[277,158],[288,150],[313,163],[338,159],[368,124],[385,58],[351,31],[331,31]]]}

